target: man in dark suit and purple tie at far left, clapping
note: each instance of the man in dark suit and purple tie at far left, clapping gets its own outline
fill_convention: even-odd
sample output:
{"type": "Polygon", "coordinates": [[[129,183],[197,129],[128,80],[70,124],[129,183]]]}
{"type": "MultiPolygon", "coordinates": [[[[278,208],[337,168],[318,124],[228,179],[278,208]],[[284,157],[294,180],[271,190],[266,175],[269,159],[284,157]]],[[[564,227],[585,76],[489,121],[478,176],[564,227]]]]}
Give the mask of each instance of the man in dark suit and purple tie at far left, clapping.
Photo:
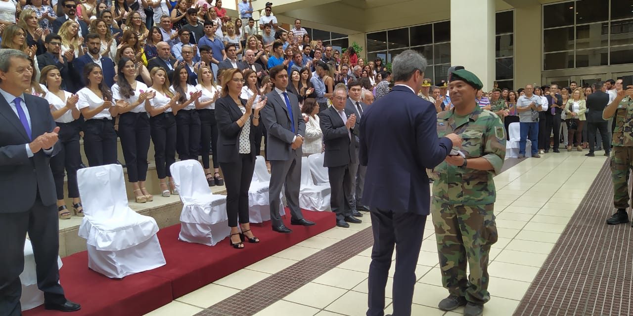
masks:
{"type": "Polygon", "coordinates": [[[60,248],[57,197],[51,157],[60,151],[49,104],[24,94],[32,68],[27,54],[0,49],[0,315],[21,315],[20,274],[26,235],[33,245],[37,287],[47,310],[73,312],[81,307],[66,300],[59,284],[60,248]]]}

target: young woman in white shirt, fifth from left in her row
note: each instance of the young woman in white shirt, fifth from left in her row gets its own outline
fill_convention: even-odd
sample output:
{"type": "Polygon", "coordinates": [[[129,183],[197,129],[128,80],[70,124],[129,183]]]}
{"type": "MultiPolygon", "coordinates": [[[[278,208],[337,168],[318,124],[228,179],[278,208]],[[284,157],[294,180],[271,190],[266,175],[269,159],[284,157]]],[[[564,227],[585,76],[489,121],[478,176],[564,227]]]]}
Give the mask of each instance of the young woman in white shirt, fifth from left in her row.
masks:
{"type": "Polygon", "coordinates": [[[196,111],[194,101],[201,95],[196,87],[187,83],[189,73],[185,66],[180,64],[173,70],[172,92],[180,94],[176,105],[172,107],[176,116],[176,151],[179,159],[197,160],[200,149],[200,117],[196,111]]]}

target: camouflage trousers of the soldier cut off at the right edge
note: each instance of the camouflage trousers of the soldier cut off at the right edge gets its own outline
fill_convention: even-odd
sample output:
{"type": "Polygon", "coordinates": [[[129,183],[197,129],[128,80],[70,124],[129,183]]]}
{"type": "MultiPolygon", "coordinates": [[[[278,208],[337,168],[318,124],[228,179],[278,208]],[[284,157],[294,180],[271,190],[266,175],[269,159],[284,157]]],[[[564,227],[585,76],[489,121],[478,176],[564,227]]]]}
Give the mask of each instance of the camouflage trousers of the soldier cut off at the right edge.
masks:
{"type": "Polygon", "coordinates": [[[629,174],[632,166],[633,147],[613,146],[613,150],[611,150],[611,181],[613,181],[613,206],[616,209],[629,207],[629,174]]]}

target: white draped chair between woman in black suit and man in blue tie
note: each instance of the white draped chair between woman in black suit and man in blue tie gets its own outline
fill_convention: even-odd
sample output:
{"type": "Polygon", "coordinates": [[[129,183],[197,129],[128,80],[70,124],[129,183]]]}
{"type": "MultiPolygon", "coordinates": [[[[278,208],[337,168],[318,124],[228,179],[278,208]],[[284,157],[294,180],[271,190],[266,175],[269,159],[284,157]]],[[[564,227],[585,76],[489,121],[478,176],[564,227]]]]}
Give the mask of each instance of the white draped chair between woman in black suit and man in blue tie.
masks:
{"type": "MultiPolygon", "coordinates": [[[[248,215],[250,222],[270,221],[270,173],[264,157],[257,156],[251,188],[248,190],[248,215]]],[[[279,200],[280,215],[285,215],[284,204],[279,200]]]]}

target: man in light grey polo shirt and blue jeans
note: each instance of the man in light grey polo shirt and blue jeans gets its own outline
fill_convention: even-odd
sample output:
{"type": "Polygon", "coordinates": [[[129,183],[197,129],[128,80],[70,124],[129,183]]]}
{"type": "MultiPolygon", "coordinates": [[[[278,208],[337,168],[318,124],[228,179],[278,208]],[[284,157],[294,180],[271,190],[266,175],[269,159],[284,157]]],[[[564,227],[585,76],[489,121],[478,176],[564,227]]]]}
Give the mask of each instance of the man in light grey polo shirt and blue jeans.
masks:
{"type": "Polygon", "coordinates": [[[518,142],[518,157],[525,158],[525,144],[529,138],[532,142],[532,157],[541,158],[538,151],[539,146],[539,111],[541,111],[542,100],[538,95],[534,95],[534,86],[525,85],[525,95],[517,100],[517,112],[521,125],[521,138],[518,142]]]}

